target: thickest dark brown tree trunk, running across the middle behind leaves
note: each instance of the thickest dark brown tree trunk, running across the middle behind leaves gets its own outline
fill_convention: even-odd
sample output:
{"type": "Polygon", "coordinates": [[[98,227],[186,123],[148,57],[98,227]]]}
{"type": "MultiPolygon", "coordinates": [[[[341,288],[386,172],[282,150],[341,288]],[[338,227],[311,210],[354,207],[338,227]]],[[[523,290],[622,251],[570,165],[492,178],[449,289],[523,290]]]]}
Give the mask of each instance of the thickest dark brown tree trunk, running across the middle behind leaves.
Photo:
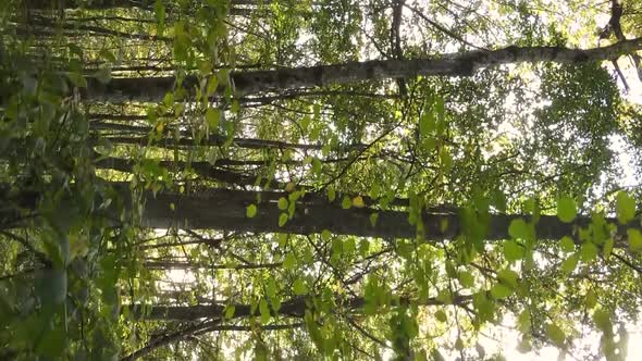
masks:
{"type": "MultiPolygon", "coordinates": [[[[380,211],[372,208],[343,209],[341,206],[320,201],[312,195],[299,199],[292,219],[279,225],[283,211],[279,210],[279,199],[288,198],[286,192],[247,191],[231,189],[210,189],[205,194],[182,196],[161,192],[147,196],[144,208],[145,226],[169,228],[176,226],[189,229],[221,229],[251,233],[319,234],[324,229],[335,235],[354,235],[381,238],[415,238],[417,226],[408,222],[407,211],[380,211]],[[261,202],[257,202],[261,199],[261,202]],[[174,210],[170,208],[174,204],[174,210]],[[247,216],[247,207],[257,204],[257,213],[247,216]],[[371,215],[376,213],[373,225],[371,215]]],[[[508,227],[511,221],[527,219],[521,214],[492,214],[487,223],[486,240],[509,239],[508,227]]],[[[458,214],[423,213],[423,233],[427,240],[454,239],[465,231],[458,214]]],[[[609,219],[612,223],[616,220],[609,219]]],[[[578,227],[591,223],[590,217],[578,217],[573,223],[564,223],[554,215],[542,215],[535,225],[539,239],[558,240],[564,236],[575,236],[578,227]]],[[[634,226],[632,223],[628,226],[634,226]]],[[[626,226],[619,226],[616,246],[626,239],[626,226]]]]}

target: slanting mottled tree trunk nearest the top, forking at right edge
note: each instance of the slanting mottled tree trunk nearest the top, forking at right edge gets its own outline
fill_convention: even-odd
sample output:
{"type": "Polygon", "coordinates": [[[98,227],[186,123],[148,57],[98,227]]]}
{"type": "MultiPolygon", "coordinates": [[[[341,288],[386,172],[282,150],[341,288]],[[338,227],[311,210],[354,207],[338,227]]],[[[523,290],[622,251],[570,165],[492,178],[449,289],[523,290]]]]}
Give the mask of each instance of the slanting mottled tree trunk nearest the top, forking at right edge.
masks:
{"type": "MultiPolygon", "coordinates": [[[[589,50],[559,47],[508,47],[493,51],[471,51],[444,54],[439,58],[413,60],[375,60],[334,65],[251,71],[232,73],[231,82],[238,96],[262,91],[283,91],[296,88],[319,87],[330,84],[349,84],[361,80],[380,80],[423,76],[470,76],[482,67],[509,63],[588,62],[617,59],[642,49],[642,38],[589,50]]],[[[88,78],[83,96],[95,101],[161,101],[174,88],[173,77],[113,78],[103,85],[88,78]]],[[[187,76],[183,87],[198,87],[195,76],[187,76]]],[[[224,89],[220,86],[218,91],[224,89]]]]}

